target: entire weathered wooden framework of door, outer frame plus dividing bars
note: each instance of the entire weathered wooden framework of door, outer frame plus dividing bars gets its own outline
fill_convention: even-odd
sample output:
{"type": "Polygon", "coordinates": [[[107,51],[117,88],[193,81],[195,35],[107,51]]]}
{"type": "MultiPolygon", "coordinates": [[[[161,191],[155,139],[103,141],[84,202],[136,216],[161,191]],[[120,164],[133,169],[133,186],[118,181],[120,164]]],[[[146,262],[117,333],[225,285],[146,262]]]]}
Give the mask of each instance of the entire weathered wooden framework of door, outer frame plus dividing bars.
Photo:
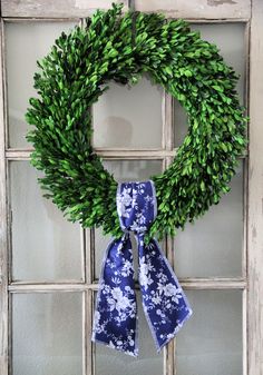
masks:
{"type": "MultiPolygon", "coordinates": [[[[125,9],[134,8],[142,11],[163,11],[171,18],[185,18],[191,22],[245,22],[246,23],[246,106],[250,112],[250,150],[243,156],[247,168],[245,174],[244,204],[244,249],[243,276],[240,278],[186,278],[181,279],[186,289],[242,289],[243,290],[243,342],[244,363],[243,375],[263,374],[263,142],[262,121],[260,112],[263,100],[263,46],[260,42],[263,34],[263,2],[261,0],[240,0],[238,2],[220,0],[134,0],[124,1],[125,9]],[[162,7],[160,7],[162,3],[162,7]],[[191,6],[189,6],[191,4],[191,6]],[[216,14],[216,19],[215,19],[216,14]],[[249,90],[250,88],[250,90],[249,90]]],[[[110,1],[100,0],[99,7],[109,8],[110,1]]],[[[90,342],[90,322],[92,319],[94,293],[98,284],[94,279],[94,231],[81,230],[82,237],[82,273],[84,280],[79,283],[21,283],[10,279],[10,210],[8,200],[8,162],[10,160],[29,160],[30,149],[7,147],[7,80],[4,66],[3,26],[6,21],[66,21],[89,16],[98,7],[95,0],[65,1],[36,0],[1,0],[1,48],[0,48],[0,373],[11,374],[11,296],[16,293],[82,293],[82,375],[92,375],[95,354],[90,342]],[[50,7],[47,4],[50,2],[50,7]]],[[[166,168],[176,154],[174,149],[173,100],[164,93],[163,97],[163,142],[160,149],[97,149],[107,159],[162,159],[166,168]]],[[[166,238],[167,257],[174,264],[173,241],[166,238]]],[[[164,351],[164,374],[176,374],[176,341],[164,351]]]]}

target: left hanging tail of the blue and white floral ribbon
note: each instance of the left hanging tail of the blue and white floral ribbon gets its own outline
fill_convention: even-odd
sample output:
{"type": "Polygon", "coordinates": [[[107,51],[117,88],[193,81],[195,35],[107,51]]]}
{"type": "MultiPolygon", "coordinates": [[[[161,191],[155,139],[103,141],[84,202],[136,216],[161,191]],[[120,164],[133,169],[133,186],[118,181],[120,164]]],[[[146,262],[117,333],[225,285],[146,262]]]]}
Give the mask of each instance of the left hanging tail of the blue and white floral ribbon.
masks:
{"type": "Polygon", "coordinates": [[[128,235],[106,249],[94,317],[92,341],[137,356],[136,295],[128,235]]]}

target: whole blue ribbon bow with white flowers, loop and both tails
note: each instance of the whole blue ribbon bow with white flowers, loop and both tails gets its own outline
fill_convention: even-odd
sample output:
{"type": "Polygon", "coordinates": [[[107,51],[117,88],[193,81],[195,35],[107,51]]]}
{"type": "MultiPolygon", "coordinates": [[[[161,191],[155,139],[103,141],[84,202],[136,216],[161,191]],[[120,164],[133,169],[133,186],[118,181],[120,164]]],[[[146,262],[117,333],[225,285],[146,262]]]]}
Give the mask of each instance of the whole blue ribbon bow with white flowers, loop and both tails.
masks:
{"type": "Polygon", "coordinates": [[[153,181],[123,182],[117,191],[117,210],[124,235],[114,239],[105,254],[92,341],[137,356],[136,296],[133,249],[134,231],[139,253],[139,285],[143,307],[157,352],[192,315],[182,287],[156,239],[145,244],[145,233],[157,214],[153,181]]]}

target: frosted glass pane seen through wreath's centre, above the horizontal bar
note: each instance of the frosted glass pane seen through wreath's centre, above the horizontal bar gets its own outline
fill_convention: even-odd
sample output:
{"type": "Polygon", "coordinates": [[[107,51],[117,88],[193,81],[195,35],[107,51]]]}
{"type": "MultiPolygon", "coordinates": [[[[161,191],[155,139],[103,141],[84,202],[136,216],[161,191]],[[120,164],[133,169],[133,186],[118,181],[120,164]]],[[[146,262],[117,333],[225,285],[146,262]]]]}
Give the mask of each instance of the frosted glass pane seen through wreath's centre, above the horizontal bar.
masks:
{"type": "Polygon", "coordinates": [[[160,148],[162,92],[146,77],[132,88],[109,82],[94,106],[94,145],[160,148]]]}

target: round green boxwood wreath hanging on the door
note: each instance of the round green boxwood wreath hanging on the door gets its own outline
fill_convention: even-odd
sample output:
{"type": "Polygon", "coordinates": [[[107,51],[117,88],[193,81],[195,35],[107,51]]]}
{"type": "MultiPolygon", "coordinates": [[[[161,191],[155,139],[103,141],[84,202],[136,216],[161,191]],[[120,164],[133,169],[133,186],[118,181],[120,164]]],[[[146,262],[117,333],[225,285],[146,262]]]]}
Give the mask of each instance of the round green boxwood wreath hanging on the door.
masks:
{"type": "MultiPolygon", "coordinates": [[[[61,33],[38,62],[38,97],[30,99],[27,135],[32,165],[46,197],[82,227],[121,236],[117,181],[92,149],[90,107],[111,80],[135,85],[143,73],[176,98],[188,115],[188,132],[173,164],[153,176],[158,215],[149,235],[174,235],[230,190],[237,156],[246,146],[246,118],[237,77],[216,46],[184,20],[97,10],[84,28],[61,33]]],[[[150,130],[150,129],[149,129],[150,130]]]]}

